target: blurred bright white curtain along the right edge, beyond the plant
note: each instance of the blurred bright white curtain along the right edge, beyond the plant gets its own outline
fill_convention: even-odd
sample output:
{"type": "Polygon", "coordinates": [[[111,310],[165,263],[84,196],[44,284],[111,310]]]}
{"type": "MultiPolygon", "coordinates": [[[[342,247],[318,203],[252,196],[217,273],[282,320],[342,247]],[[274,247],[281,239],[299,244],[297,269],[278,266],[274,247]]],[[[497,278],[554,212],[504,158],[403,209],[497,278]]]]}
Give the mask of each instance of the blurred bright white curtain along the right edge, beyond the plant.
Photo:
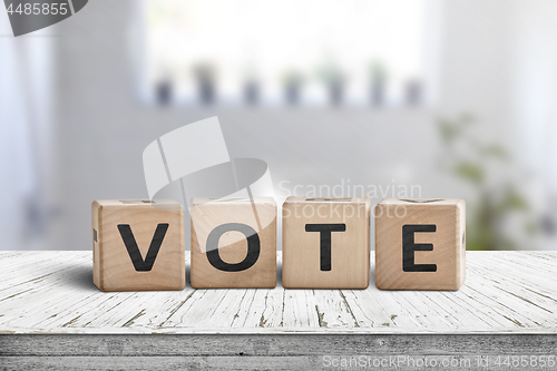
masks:
{"type": "MultiPolygon", "coordinates": [[[[512,79],[510,111],[517,158],[530,169],[527,188],[535,208],[557,227],[557,2],[510,3],[512,79]]],[[[551,224],[551,223],[550,223],[551,224]]],[[[555,248],[555,236],[543,240],[555,248]]]]}

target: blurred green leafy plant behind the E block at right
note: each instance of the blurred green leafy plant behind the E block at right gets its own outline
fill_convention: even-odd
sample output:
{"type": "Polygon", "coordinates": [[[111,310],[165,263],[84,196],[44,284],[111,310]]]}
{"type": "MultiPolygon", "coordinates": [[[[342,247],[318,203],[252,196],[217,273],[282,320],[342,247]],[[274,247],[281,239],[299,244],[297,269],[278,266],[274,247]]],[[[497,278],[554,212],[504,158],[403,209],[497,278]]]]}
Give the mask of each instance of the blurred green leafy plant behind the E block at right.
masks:
{"type": "MultiPolygon", "coordinates": [[[[482,144],[471,135],[473,124],[470,115],[438,121],[443,148],[441,167],[471,185],[476,194],[476,199],[468,203],[467,250],[516,250],[516,242],[506,235],[502,224],[510,213],[526,215],[528,202],[509,177],[488,179],[491,169],[511,159],[500,145],[482,144]]],[[[525,232],[535,233],[535,224],[526,222],[525,232]]]]}

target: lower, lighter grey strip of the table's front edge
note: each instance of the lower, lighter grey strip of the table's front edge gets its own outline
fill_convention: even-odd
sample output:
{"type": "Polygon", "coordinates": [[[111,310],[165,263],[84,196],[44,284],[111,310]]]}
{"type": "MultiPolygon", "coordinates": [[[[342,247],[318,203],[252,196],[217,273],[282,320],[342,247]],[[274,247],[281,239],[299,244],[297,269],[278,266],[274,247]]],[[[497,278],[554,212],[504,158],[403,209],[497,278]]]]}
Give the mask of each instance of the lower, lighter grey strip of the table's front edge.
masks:
{"type": "MultiPolygon", "coordinates": [[[[255,336],[254,336],[255,338],[255,336]]],[[[418,339],[423,341],[424,339],[418,339]]],[[[489,339],[482,339],[489,341],[489,339]]],[[[319,355],[198,355],[198,357],[1,357],[4,370],[537,370],[539,367],[508,367],[511,361],[535,362],[547,355],[541,353],[433,353],[417,355],[338,353],[319,355]],[[502,355],[502,357],[499,357],[502,355]],[[486,363],[479,363],[479,361],[486,363]],[[497,363],[497,360],[499,363],[497,363]],[[335,362],[335,363],[333,363],[335,362]],[[341,363],[342,362],[342,363],[341,363]],[[375,363],[374,363],[375,362],[375,363]],[[382,362],[382,363],[380,363],[382,362]],[[391,363],[392,362],[392,363],[391,363]],[[434,362],[434,363],[433,363],[434,362]],[[443,363],[448,362],[448,363],[443,363]],[[455,362],[455,363],[450,363],[455,362]],[[381,367],[383,364],[384,367],[381,367]],[[436,365],[431,365],[436,364],[436,365]],[[449,367],[443,364],[448,364],[449,367]],[[451,365],[452,364],[452,365],[451,365]]],[[[553,354],[551,354],[553,355],[553,354]]],[[[535,363],[532,363],[535,364],[535,363]]],[[[547,368],[547,367],[546,367],[547,368]]]]}

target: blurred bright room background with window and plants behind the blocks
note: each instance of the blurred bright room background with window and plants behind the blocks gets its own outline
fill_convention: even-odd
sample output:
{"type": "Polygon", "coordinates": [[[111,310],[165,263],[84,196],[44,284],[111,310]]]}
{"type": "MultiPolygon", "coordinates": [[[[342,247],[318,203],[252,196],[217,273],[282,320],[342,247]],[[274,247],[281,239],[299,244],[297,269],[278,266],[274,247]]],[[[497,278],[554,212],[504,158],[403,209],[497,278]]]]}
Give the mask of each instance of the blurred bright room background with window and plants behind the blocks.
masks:
{"type": "Polygon", "coordinates": [[[469,250],[556,250],[556,19],[553,0],[97,0],[13,38],[0,11],[0,250],[91,248],[91,202],[146,198],[144,148],[215,115],[278,204],[414,186],[466,199],[469,250]]]}

